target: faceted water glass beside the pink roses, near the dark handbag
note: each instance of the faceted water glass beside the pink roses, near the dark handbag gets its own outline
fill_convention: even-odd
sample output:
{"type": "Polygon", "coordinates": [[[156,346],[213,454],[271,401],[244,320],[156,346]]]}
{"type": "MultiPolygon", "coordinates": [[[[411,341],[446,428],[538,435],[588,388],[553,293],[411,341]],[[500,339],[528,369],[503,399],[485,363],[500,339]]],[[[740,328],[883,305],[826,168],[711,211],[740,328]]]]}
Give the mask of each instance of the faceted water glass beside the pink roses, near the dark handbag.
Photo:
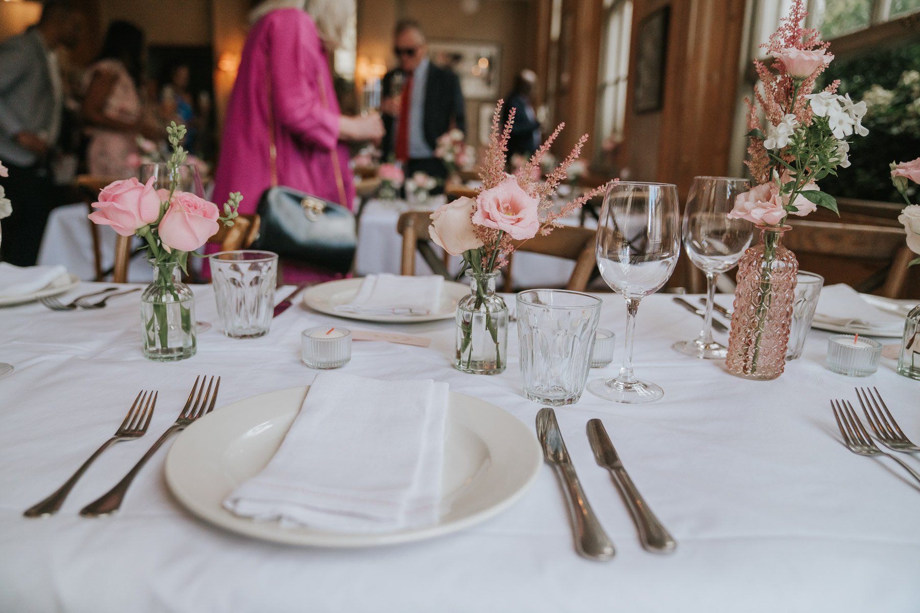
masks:
{"type": "Polygon", "coordinates": [[[256,338],[268,334],[274,314],[278,254],[222,251],[209,259],[224,335],[256,338]]]}

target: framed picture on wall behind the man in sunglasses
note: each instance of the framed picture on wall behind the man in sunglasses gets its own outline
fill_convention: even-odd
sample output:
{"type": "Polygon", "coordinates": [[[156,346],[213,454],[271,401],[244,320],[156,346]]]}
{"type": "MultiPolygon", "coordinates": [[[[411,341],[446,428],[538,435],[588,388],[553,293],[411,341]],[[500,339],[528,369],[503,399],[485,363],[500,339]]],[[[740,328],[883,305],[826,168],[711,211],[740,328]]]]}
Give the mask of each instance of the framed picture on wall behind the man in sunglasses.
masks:
{"type": "Polygon", "coordinates": [[[499,97],[501,50],[490,42],[432,40],[431,62],[449,68],[460,77],[460,89],[471,100],[499,97]]]}

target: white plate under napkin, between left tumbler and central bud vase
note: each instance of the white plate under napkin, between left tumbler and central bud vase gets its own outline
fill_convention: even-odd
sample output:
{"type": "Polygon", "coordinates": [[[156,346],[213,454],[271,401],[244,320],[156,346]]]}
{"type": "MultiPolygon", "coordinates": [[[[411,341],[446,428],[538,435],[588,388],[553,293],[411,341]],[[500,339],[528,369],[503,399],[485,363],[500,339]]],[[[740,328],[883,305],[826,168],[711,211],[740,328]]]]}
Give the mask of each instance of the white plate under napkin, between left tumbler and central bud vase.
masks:
{"type": "Polygon", "coordinates": [[[354,300],[364,282],[362,278],[342,278],[337,281],[320,283],[304,291],[304,304],[314,311],[327,315],[358,319],[363,322],[383,322],[390,324],[412,324],[413,322],[437,322],[453,319],[457,312],[457,302],[469,293],[469,285],[455,281],[444,281],[441,290],[441,304],[438,310],[427,315],[372,315],[362,312],[336,311],[341,304],[354,300]]]}

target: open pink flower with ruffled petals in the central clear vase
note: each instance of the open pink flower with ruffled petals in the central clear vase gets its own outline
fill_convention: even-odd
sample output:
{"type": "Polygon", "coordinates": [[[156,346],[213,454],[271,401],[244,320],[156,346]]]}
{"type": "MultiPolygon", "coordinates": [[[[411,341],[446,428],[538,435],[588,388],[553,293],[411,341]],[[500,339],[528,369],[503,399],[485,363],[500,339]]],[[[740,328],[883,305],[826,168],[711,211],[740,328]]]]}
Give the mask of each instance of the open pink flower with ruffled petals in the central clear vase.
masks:
{"type": "Polygon", "coordinates": [[[515,240],[534,238],[540,229],[539,200],[527,195],[517,179],[507,176],[499,185],[479,192],[473,223],[509,233],[515,240]]]}

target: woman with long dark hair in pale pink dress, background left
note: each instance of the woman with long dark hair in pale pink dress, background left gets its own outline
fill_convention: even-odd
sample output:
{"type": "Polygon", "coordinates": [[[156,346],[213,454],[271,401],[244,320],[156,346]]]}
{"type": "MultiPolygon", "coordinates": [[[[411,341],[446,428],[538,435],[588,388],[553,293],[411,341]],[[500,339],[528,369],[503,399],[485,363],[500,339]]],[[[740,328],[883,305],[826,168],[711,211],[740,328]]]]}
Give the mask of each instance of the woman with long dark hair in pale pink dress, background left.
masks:
{"type": "Polygon", "coordinates": [[[144,31],[128,21],[109,24],[96,62],[84,76],[82,114],[90,175],[127,178],[136,170],[137,137],[162,139],[165,126],[144,111],[144,31]]]}

